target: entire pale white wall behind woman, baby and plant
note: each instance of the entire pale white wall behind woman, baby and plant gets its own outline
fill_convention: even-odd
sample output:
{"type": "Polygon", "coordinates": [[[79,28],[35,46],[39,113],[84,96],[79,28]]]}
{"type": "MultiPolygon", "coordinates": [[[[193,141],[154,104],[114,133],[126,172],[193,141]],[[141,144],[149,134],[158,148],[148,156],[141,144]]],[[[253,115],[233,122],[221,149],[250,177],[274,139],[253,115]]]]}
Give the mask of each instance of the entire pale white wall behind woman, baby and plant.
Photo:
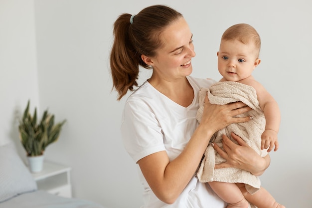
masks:
{"type": "MultiPolygon", "coordinates": [[[[261,177],[262,185],[289,208],[311,207],[310,1],[0,3],[0,28],[7,32],[0,32],[0,100],[1,115],[2,111],[4,114],[0,118],[1,131],[16,139],[14,110],[23,109],[28,97],[33,104],[39,103],[41,110],[48,107],[56,120],[66,118],[59,141],[47,148],[46,159],[72,167],[74,197],[111,208],[142,205],[136,165],[125,152],[120,137],[125,99],[117,102],[117,94],[111,92],[108,56],[112,25],[119,14],[138,13],[148,5],[166,3],[183,13],[193,32],[193,76],[220,78],[216,51],[227,27],[246,22],[258,30],[262,37],[262,62],[254,75],[274,95],[282,112],[280,149],[271,154],[271,166],[261,177]],[[25,77],[30,81],[25,81],[25,77]]],[[[140,82],[147,76],[144,72],[140,82]]]]}

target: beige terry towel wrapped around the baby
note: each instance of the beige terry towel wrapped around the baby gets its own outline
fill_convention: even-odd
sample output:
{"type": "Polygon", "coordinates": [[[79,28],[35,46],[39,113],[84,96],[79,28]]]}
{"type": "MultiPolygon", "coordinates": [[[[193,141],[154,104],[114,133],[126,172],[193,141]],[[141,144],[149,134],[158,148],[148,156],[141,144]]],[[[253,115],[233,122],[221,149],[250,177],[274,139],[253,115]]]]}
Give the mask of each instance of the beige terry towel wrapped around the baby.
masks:
{"type": "MultiPolygon", "coordinates": [[[[251,146],[261,157],[267,155],[267,150],[261,150],[261,134],[265,128],[265,117],[257,100],[256,90],[248,85],[238,82],[217,82],[209,89],[202,88],[199,92],[199,105],[196,118],[200,122],[205,96],[208,94],[211,104],[224,105],[232,102],[241,101],[251,107],[253,110],[240,115],[241,117],[252,116],[249,122],[230,124],[226,128],[216,132],[210,142],[215,142],[223,149],[222,135],[230,137],[231,132],[240,136],[249,146],[251,146]]],[[[235,142],[236,143],[236,142],[235,142]]],[[[250,172],[237,168],[214,169],[215,164],[220,164],[225,160],[214,151],[209,145],[204,153],[204,158],[197,172],[200,182],[228,182],[244,183],[246,190],[250,194],[256,193],[260,189],[260,180],[250,172]]]]}

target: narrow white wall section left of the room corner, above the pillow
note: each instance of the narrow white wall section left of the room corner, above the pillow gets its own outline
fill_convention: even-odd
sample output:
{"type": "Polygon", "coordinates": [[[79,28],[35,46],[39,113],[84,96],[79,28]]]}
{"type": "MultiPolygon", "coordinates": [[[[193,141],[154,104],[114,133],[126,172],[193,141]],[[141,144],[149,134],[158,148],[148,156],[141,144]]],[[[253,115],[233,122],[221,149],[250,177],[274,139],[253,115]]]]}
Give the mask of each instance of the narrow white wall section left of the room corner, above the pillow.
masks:
{"type": "Polygon", "coordinates": [[[33,1],[0,0],[0,145],[20,145],[16,130],[28,99],[38,106],[33,1]]]}

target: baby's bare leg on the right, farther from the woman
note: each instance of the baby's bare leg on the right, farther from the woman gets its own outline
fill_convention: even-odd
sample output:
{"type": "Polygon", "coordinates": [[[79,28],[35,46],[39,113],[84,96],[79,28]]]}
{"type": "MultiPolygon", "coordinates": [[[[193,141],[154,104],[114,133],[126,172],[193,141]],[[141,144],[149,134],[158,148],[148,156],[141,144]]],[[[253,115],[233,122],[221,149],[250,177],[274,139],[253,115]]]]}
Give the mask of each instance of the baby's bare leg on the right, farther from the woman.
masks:
{"type": "Polygon", "coordinates": [[[246,200],[257,206],[257,208],[285,208],[283,205],[277,203],[272,195],[263,187],[261,187],[258,192],[251,195],[247,192],[244,184],[237,184],[237,186],[246,200]]]}

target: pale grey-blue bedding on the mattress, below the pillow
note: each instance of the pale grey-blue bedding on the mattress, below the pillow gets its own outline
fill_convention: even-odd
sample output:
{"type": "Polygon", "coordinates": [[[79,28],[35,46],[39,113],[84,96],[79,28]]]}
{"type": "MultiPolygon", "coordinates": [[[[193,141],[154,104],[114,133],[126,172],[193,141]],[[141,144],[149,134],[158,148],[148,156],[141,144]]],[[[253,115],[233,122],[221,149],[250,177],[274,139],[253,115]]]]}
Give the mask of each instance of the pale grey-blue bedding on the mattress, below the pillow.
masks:
{"type": "Polygon", "coordinates": [[[0,203],[0,208],[104,208],[94,202],[64,198],[42,190],[24,193],[0,203]]]}

